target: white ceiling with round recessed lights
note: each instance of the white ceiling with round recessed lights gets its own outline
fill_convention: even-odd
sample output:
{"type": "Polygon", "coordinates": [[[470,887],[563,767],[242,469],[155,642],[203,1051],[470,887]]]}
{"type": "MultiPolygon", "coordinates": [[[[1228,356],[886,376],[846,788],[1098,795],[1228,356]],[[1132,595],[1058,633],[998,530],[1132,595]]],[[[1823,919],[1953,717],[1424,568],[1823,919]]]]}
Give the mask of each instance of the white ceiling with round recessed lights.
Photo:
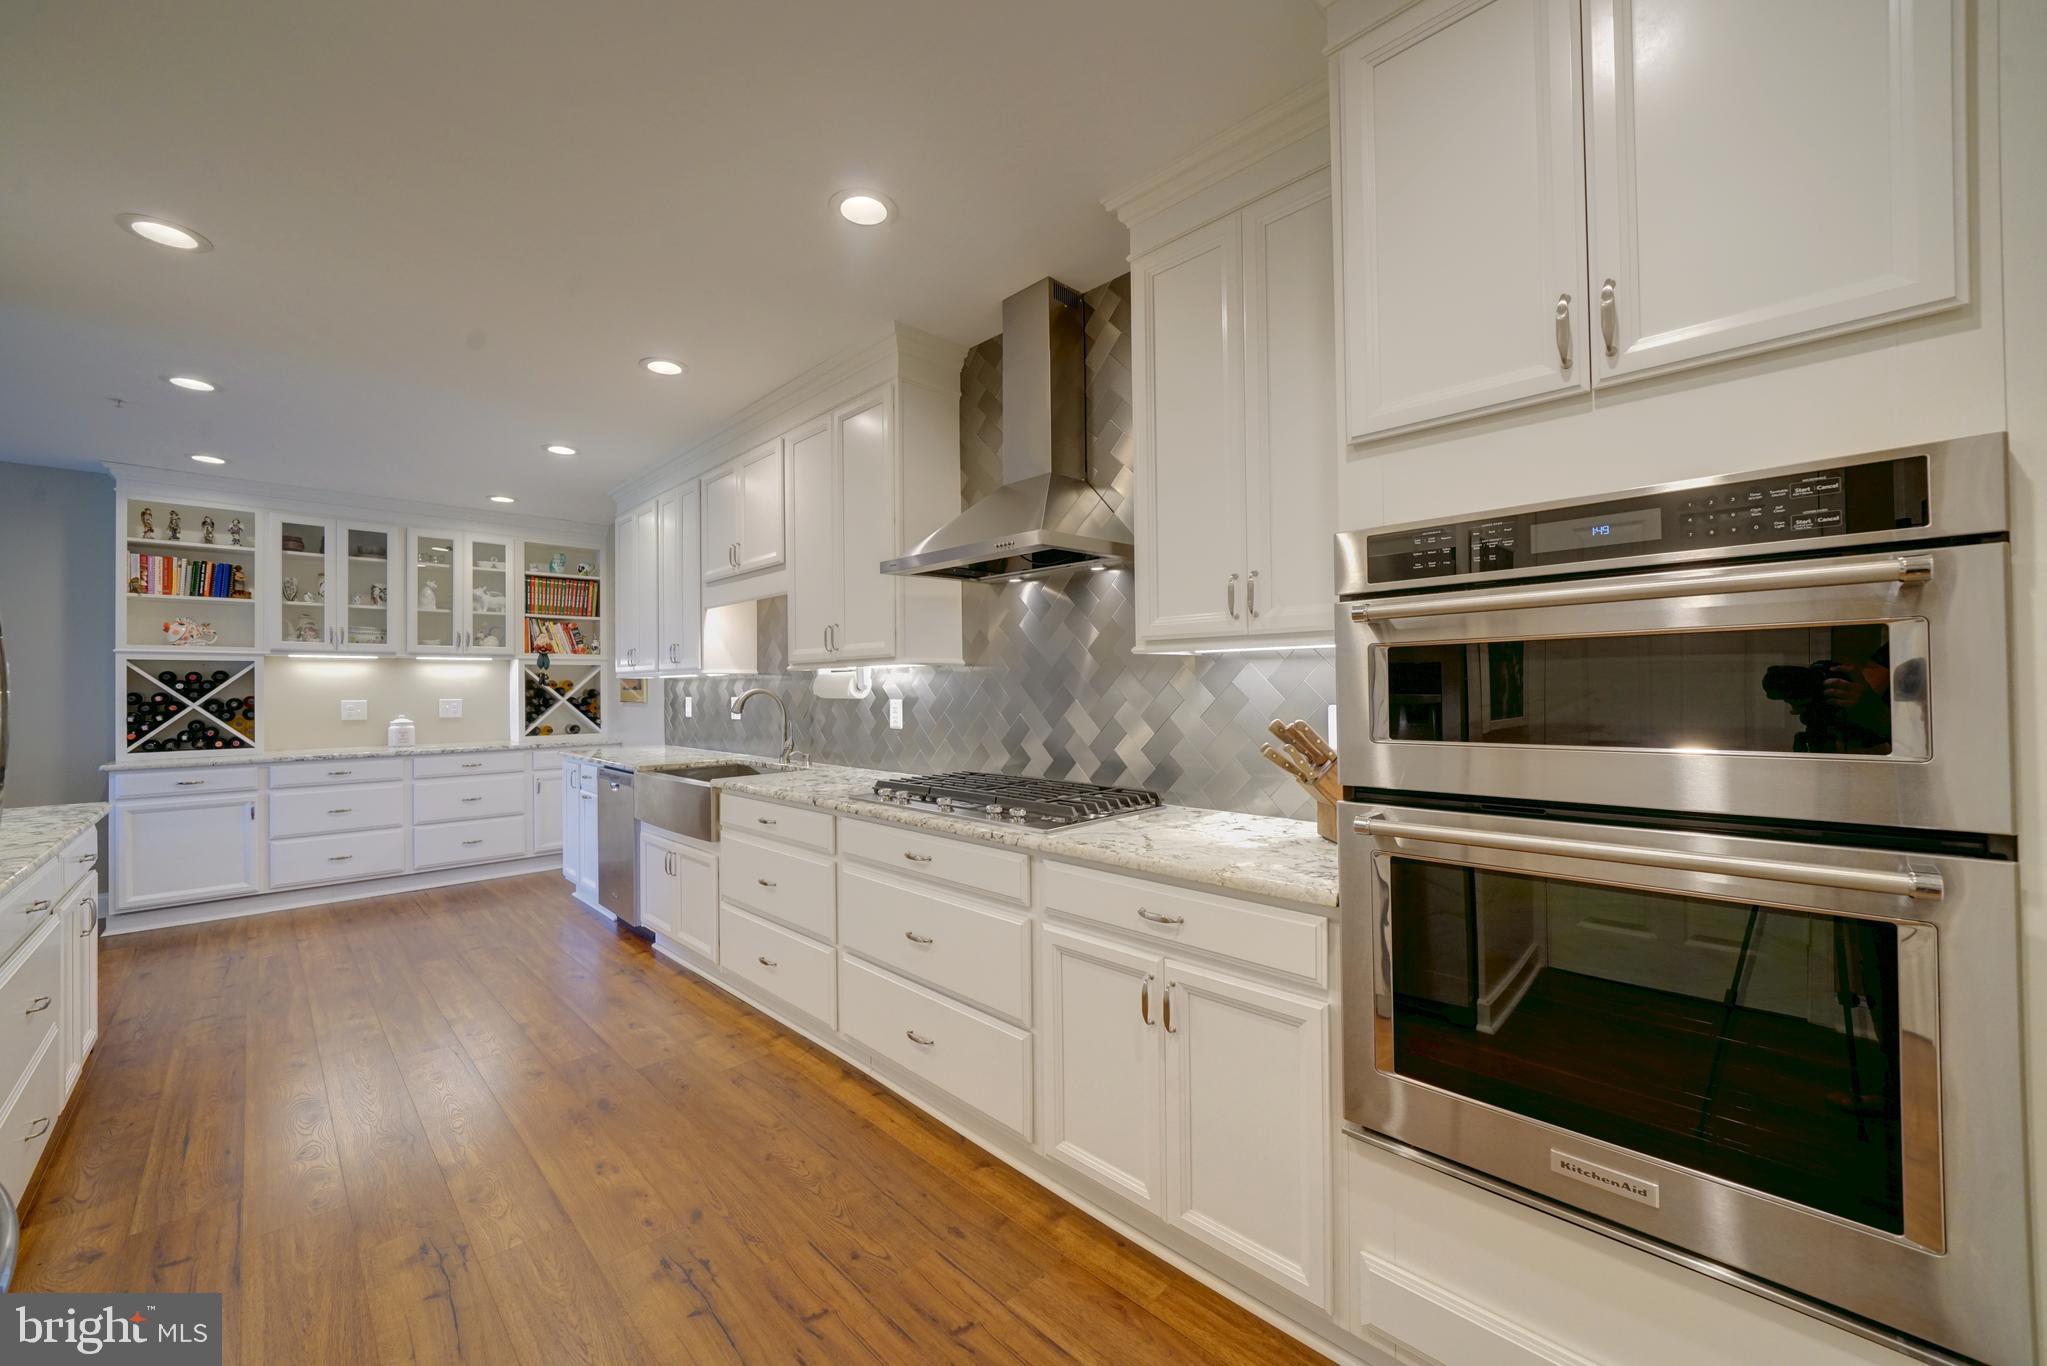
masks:
{"type": "Polygon", "coordinates": [[[1320,41],[1314,0],[8,4],[0,459],[608,520],[890,322],[970,344],[1118,274],[1101,197],[1320,41]],[[899,221],[829,211],[862,186],[899,221]]]}

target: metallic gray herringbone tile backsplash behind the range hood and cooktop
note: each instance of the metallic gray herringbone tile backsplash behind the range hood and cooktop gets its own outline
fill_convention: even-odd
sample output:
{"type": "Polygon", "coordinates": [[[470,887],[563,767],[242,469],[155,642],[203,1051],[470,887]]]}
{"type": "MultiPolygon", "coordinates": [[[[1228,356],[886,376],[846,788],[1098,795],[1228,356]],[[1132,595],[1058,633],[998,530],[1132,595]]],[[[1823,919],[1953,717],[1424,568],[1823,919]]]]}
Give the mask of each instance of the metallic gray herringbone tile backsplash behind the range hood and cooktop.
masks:
{"type": "MultiPolygon", "coordinates": [[[[1130,276],[1089,291],[1089,473],[1120,510],[1130,500],[1130,276]]],[[[968,500],[1001,481],[1001,338],[960,371],[960,487],[968,500]]],[[[788,672],[788,600],[759,604],[766,678],[671,678],[667,739],[772,754],[770,709],[731,721],[731,700],[770,686],[813,758],[862,768],[940,772],[993,768],[1050,778],[1148,786],[1167,801],[1308,817],[1310,799],[1259,758],[1265,723],[1324,727],[1337,698],[1331,651],[1138,655],[1128,569],[1030,584],[964,586],[966,668],[874,670],[864,702],[819,700],[788,672]],[[684,719],[684,698],[696,715],[684,719]],[[888,698],[903,729],[888,729],[888,698]]]]}

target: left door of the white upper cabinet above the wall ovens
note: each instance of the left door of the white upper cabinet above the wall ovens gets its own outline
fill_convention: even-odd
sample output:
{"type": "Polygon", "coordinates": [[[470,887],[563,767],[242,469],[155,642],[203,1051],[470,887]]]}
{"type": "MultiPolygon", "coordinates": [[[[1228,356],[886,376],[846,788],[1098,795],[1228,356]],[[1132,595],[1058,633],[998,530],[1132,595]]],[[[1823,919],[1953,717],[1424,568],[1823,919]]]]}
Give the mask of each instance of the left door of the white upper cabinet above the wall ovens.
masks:
{"type": "Polygon", "coordinates": [[[1425,0],[1337,80],[1349,438],[1586,389],[1576,0],[1425,0]]]}

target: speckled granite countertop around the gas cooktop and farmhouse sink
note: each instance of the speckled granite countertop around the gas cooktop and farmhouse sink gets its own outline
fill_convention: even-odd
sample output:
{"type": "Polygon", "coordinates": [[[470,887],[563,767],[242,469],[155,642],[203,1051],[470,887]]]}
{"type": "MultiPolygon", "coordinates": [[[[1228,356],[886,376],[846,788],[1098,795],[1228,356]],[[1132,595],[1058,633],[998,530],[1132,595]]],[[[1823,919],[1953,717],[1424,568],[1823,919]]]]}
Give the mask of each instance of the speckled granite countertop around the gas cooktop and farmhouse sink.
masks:
{"type": "MultiPolygon", "coordinates": [[[[649,772],[680,772],[706,764],[733,762],[780,768],[780,760],[764,760],[755,754],[690,750],[684,745],[620,745],[604,754],[590,750],[577,758],[596,758],[604,764],[649,772]]],[[[753,778],[718,778],[716,786],[745,797],[819,807],[866,821],[888,821],[962,840],[985,840],[1071,862],[1148,872],[1224,891],[1243,891],[1255,897],[1318,907],[1329,913],[1337,907],[1337,846],[1316,834],[1314,821],[1290,821],[1277,815],[1240,815],[1236,811],[1204,811],[1200,807],[1161,807],[1142,815],[1126,815],[1114,821],[1046,834],[860,801],[874,795],[878,778],[899,776],[897,772],[817,764],[813,768],[764,772],[753,778]]]]}

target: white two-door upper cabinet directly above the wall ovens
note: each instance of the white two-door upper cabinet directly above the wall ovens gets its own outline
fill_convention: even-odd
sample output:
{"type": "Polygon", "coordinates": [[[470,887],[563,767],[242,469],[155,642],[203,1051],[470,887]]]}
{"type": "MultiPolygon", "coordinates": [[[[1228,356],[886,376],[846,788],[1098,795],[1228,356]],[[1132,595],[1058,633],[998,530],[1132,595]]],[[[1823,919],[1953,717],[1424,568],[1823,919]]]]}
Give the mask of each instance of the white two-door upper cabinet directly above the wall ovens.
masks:
{"type": "Polygon", "coordinates": [[[1345,43],[1349,440],[1965,301],[1959,12],[1423,0],[1345,43]]]}

